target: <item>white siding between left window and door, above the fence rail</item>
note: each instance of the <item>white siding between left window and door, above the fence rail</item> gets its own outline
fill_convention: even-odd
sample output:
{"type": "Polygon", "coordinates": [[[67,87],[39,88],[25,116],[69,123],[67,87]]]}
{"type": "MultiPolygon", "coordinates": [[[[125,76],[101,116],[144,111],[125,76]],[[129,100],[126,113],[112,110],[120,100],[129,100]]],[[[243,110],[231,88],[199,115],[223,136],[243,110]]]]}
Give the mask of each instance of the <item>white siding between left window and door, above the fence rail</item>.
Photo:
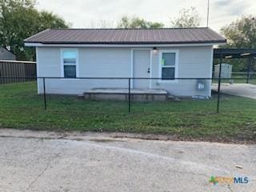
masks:
{"type": "Polygon", "coordinates": [[[80,77],[130,77],[128,48],[80,48],[79,61],[80,77]]]}

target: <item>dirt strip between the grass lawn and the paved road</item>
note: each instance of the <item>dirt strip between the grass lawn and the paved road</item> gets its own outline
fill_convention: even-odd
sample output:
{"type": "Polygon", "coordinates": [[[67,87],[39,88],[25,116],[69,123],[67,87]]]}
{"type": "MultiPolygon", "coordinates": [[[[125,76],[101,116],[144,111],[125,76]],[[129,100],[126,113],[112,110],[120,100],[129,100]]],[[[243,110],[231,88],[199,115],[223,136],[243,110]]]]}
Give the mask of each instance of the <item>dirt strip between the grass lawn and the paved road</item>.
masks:
{"type": "MultiPolygon", "coordinates": [[[[253,124],[254,126],[254,124],[253,124]]],[[[252,125],[248,125],[248,129],[252,129],[252,125]]],[[[204,137],[191,138],[176,134],[134,134],[120,132],[49,132],[34,130],[15,130],[0,129],[1,138],[42,138],[42,139],[70,139],[76,141],[89,140],[91,142],[125,142],[129,139],[142,140],[159,140],[159,141],[184,141],[184,142],[221,142],[234,144],[256,144],[256,134],[241,133],[239,136],[233,137],[204,137]]]]}

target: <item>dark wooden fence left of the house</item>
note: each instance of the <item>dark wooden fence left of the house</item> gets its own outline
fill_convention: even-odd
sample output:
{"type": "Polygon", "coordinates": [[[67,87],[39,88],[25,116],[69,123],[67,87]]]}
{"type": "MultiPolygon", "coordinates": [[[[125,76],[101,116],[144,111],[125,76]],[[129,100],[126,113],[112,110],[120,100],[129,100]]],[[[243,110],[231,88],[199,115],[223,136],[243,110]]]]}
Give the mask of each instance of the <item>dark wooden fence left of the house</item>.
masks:
{"type": "Polygon", "coordinates": [[[36,62],[0,60],[0,84],[35,81],[36,77],[36,62]]]}

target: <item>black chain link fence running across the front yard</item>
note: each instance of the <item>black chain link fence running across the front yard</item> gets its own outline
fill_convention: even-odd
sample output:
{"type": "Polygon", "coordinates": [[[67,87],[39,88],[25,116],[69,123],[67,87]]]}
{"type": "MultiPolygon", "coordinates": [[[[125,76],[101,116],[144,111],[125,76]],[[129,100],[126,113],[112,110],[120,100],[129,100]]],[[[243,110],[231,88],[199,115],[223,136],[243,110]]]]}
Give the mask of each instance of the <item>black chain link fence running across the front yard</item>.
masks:
{"type": "MultiPolygon", "coordinates": [[[[16,79],[10,83],[8,94],[18,93],[23,99],[28,98],[26,106],[30,106],[30,96],[42,99],[43,109],[58,110],[82,109],[83,102],[101,103],[97,110],[107,112],[108,104],[122,112],[136,112],[158,110],[198,111],[206,110],[219,113],[222,110],[222,98],[234,101],[234,97],[241,99],[256,99],[256,78],[58,78],[58,77],[1,77],[1,81],[16,79]],[[7,79],[7,80],[6,80],[7,79]],[[36,82],[24,82],[27,79],[36,82]],[[21,80],[19,83],[18,81],[21,80]],[[23,84],[22,84],[23,82],[23,84]],[[22,88],[22,85],[24,87],[22,88]],[[29,94],[30,93],[30,94],[29,94]],[[67,102],[68,101],[68,102],[67,102]],[[68,103],[65,105],[65,103],[68,103]],[[79,105],[76,105],[78,104],[79,105]],[[73,105],[74,104],[74,105],[73,105]],[[120,107],[119,107],[120,106],[120,107]]],[[[4,85],[2,85],[4,87],[4,85]]],[[[6,88],[5,87],[5,88],[6,88]]],[[[85,109],[90,110],[90,109],[85,109]]]]}

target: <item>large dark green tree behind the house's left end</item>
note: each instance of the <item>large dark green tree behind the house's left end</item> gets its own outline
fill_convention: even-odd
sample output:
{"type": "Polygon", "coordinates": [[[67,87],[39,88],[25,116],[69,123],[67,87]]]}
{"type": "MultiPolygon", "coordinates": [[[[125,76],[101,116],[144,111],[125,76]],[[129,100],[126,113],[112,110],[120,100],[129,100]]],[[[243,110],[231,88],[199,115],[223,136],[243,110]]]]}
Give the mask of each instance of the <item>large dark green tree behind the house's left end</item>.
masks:
{"type": "Polygon", "coordinates": [[[34,60],[34,49],[23,40],[47,28],[66,28],[57,15],[34,8],[34,0],[0,0],[0,46],[13,52],[19,60],[34,60]]]}

